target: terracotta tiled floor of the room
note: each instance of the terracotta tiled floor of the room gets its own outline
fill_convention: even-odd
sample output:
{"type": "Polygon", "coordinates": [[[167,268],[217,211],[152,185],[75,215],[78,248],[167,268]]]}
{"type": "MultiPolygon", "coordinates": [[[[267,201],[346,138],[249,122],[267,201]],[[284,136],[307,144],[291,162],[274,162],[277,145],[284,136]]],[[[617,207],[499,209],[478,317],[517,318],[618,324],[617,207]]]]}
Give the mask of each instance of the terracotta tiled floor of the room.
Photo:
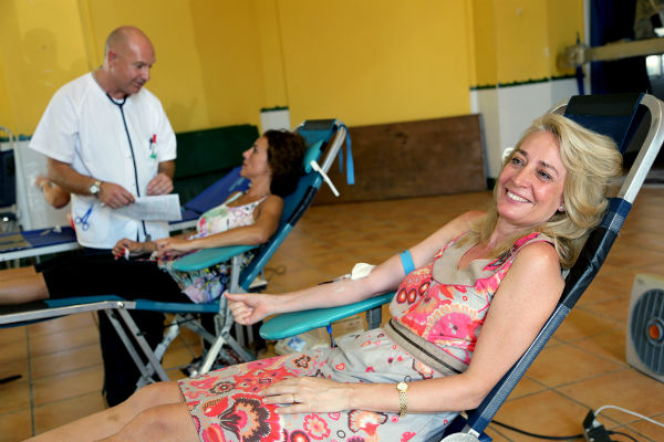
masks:
{"type": "MultiPolygon", "coordinates": [[[[273,293],[377,263],[422,240],[454,214],[481,208],[489,192],[311,208],[269,263],[273,293]]],[[[589,408],[619,406],[664,421],[664,385],[625,361],[630,295],[637,273],[664,278],[664,189],[644,189],[596,280],[498,413],[497,420],[549,435],[579,434],[589,408]]],[[[96,318],[81,314],[0,329],[0,441],[19,441],[104,408],[96,318]]],[[[176,341],[166,355],[173,378],[198,343],[176,341]]],[[[664,441],[664,429],[614,410],[609,429],[639,441],[664,441]]],[[[530,441],[491,425],[496,441],[530,441]]],[[[626,441],[614,435],[616,441],[626,441]]]]}

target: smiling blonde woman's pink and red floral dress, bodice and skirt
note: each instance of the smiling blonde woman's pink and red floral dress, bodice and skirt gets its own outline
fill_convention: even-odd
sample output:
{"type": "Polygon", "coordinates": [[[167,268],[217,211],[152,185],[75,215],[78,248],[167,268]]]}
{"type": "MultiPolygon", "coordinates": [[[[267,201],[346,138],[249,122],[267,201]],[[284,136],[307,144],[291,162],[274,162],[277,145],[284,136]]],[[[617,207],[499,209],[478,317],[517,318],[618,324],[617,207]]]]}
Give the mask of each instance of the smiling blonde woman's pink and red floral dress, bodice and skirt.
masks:
{"type": "MultiPolygon", "coordinates": [[[[401,325],[435,341],[463,364],[470,360],[490,301],[518,251],[538,233],[517,241],[506,256],[475,261],[457,270],[468,246],[445,246],[429,265],[408,274],[392,301],[401,325]],[[452,269],[453,284],[438,278],[452,269]],[[473,281],[470,281],[473,280],[473,281]]],[[[449,273],[449,272],[448,272],[449,273]]],[[[339,382],[417,381],[454,375],[434,370],[396,345],[382,328],[351,334],[336,348],[278,356],[210,371],[179,381],[201,441],[424,441],[439,432],[457,412],[398,413],[349,410],[333,413],[277,414],[278,404],[263,404],[258,392],[270,383],[301,376],[339,382]]],[[[394,401],[398,403],[395,390],[394,401]]]]}

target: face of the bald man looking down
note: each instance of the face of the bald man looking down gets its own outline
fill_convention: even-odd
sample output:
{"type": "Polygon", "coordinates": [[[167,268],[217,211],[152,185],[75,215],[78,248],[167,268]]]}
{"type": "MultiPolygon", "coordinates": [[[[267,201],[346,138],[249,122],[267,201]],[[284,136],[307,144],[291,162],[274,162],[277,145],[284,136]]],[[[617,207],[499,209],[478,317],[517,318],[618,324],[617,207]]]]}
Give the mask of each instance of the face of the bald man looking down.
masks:
{"type": "Polygon", "coordinates": [[[152,43],[141,35],[134,35],[117,51],[108,51],[111,76],[115,92],[124,95],[138,93],[149,80],[149,70],[155,63],[152,43]]]}

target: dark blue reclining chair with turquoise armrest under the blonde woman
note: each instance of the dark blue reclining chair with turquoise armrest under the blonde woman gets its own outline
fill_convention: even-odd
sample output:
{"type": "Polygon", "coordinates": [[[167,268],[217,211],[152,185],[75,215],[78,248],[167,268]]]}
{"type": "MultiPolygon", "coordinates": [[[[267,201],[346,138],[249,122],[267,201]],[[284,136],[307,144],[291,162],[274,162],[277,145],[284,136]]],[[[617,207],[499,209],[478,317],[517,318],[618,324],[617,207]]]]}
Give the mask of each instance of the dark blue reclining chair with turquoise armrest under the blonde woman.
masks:
{"type": "MultiPolygon", "coordinates": [[[[623,158],[625,158],[624,168],[629,168],[629,170],[618,194],[611,198],[608,212],[601,224],[590,233],[577,263],[570,269],[560,303],[535,341],[477,409],[467,410],[465,413],[459,414],[432,441],[439,441],[443,438],[446,441],[491,440],[485,433],[487,425],[590,285],[606,259],[636,193],[641,189],[664,141],[663,106],[664,104],[652,95],[620,94],[574,96],[550,109],[550,112],[563,114],[592,130],[611,136],[618,144],[623,158]],[[635,157],[632,165],[627,164],[631,161],[630,157],[635,157]]],[[[409,261],[408,256],[409,254],[406,252],[402,254],[402,263],[406,273],[414,270],[412,260],[409,261]]],[[[369,325],[375,327],[381,323],[381,305],[388,303],[393,296],[394,293],[388,293],[349,306],[280,315],[266,322],[260,328],[260,334],[264,339],[282,339],[318,327],[328,327],[330,330],[331,323],[367,308],[373,308],[367,314],[369,325]]]]}

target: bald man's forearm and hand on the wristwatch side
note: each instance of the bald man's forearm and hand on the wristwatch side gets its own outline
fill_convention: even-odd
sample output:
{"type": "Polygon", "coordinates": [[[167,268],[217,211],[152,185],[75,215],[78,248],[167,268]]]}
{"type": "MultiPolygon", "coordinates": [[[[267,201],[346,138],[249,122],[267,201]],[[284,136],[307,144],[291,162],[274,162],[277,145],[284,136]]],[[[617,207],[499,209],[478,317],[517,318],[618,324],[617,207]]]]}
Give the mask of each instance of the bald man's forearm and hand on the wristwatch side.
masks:
{"type": "MultiPolygon", "coordinates": [[[[49,179],[70,193],[91,196],[90,188],[97,180],[75,171],[71,165],[49,158],[49,179]]],[[[134,196],[124,187],[114,182],[102,182],[100,201],[111,209],[117,209],[134,202],[134,196]]]]}

